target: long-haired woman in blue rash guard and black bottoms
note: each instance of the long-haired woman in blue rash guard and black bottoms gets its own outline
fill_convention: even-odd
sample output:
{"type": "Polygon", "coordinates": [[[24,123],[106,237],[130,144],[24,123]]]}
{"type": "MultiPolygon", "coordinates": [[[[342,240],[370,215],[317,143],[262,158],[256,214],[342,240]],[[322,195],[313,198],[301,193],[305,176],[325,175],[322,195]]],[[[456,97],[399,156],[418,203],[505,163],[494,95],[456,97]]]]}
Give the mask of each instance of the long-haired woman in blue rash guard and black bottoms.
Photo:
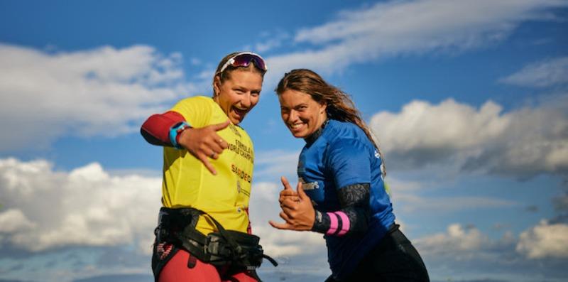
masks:
{"type": "Polygon", "coordinates": [[[331,281],[429,281],[395,224],[381,151],[349,96],[311,70],[276,87],[285,125],[306,144],[297,192],[282,178],[278,229],[324,234],[331,281]]]}

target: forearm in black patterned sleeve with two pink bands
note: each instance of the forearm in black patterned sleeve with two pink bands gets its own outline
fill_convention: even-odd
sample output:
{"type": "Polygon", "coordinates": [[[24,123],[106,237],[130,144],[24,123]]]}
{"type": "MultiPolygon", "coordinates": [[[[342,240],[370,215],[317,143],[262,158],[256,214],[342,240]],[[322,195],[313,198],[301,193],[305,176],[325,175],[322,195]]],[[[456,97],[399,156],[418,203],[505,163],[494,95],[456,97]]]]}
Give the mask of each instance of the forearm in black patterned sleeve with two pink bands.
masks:
{"type": "Polygon", "coordinates": [[[312,231],[331,236],[364,232],[369,219],[368,183],[349,185],[338,190],[341,209],[334,212],[316,211],[312,231]]]}

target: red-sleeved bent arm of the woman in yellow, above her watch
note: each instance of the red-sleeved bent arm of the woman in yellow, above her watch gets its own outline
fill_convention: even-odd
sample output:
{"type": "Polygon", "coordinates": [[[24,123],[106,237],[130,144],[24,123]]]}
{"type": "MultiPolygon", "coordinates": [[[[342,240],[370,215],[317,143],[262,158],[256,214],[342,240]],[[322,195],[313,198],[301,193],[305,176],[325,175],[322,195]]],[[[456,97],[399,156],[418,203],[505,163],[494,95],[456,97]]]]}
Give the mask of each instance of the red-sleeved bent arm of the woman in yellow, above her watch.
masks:
{"type": "Polygon", "coordinates": [[[173,146],[170,141],[170,129],[183,121],[185,119],[178,112],[153,114],[142,124],[140,133],[148,143],[153,145],[173,146]]]}

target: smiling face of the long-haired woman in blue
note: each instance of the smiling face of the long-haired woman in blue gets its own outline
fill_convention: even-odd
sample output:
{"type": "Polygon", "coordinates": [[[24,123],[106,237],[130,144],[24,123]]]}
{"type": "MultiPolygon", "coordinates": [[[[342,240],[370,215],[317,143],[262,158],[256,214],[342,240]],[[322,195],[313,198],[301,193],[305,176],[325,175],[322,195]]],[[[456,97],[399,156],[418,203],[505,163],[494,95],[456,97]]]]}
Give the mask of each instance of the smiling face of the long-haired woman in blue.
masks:
{"type": "Polygon", "coordinates": [[[327,119],[326,105],[304,92],[287,89],[278,95],[278,100],[282,120],[296,138],[310,136],[327,119]]]}

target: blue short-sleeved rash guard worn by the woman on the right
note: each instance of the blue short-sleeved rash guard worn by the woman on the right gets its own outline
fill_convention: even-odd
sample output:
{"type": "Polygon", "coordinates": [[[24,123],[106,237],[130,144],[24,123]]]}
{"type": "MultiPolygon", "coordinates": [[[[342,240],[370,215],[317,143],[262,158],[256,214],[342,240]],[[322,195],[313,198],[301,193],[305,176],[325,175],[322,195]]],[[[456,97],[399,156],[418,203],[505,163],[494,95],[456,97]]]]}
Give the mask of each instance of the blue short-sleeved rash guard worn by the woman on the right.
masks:
{"type": "Polygon", "coordinates": [[[349,122],[330,119],[320,136],[306,142],[297,175],[315,210],[342,209],[338,197],[341,188],[358,183],[369,183],[370,187],[366,231],[345,236],[324,235],[329,267],[334,278],[340,279],[354,271],[394,224],[391,199],[383,183],[381,157],[364,131],[349,122]]]}

